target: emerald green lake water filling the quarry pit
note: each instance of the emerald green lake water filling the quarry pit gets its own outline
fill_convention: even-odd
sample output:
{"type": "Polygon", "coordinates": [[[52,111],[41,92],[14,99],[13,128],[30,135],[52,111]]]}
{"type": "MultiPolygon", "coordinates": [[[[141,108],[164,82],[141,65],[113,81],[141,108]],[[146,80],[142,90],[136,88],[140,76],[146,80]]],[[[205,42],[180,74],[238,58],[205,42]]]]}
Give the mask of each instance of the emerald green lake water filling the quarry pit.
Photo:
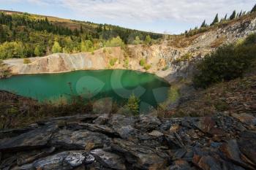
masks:
{"type": "Polygon", "coordinates": [[[170,85],[154,74],[130,70],[76,71],[60,74],[18,75],[0,80],[0,89],[35,98],[56,100],[70,95],[126,102],[132,94],[140,98],[140,109],[156,107],[167,98],[170,85]]]}

